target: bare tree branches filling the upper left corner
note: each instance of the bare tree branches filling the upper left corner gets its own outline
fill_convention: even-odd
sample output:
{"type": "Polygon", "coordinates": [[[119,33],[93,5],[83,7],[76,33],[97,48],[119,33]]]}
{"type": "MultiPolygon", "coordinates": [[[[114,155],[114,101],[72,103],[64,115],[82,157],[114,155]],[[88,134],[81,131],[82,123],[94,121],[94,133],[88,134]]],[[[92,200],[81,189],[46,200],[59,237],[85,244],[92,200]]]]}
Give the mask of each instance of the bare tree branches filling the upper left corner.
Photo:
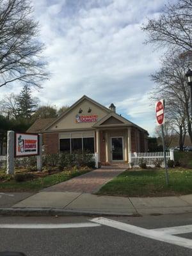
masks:
{"type": "Polygon", "coordinates": [[[15,81],[40,87],[47,78],[32,14],[28,0],[0,1],[0,87],[15,81]]]}

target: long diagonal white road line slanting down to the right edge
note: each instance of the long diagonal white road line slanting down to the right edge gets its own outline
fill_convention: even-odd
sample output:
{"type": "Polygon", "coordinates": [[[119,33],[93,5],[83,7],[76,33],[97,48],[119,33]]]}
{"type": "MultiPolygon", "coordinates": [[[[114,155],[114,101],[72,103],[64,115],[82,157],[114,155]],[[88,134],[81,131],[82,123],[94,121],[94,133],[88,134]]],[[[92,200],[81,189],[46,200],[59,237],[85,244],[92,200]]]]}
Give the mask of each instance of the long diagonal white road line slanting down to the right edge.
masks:
{"type": "Polygon", "coordinates": [[[95,223],[99,223],[101,225],[106,225],[108,227],[113,227],[113,228],[117,228],[119,230],[123,230],[125,232],[136,234],[138,236],[148,237],[150,239],[155,239],[158,241],[162,241],[164,243],[175,244],[175,245],[179,245],[179,246],[183,246],[183,247],[192,249],[192,240],[191,239],[172,236],[170,234],[166,234],[163,231],[136,227],[134,225],[123,223],[120,221],[109,220],[107,218],[102,218],[102,217],[94,218],[94,219],[92,219],[92,221],[95,223]]]}

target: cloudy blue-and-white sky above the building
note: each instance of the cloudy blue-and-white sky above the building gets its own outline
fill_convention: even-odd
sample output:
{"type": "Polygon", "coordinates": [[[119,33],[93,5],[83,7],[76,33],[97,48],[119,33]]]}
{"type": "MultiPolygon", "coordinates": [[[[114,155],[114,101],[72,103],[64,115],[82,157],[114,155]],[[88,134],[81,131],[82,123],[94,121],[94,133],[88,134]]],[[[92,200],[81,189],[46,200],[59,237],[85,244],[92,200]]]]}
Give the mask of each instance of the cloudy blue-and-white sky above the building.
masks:
{"type": "MultiPolygon", "coordinates": [[[[33,0],[51,77],[33,96],[42,105],[71,105],[83,95],[109,106],[153,134],[150,74],[161,51],[145,45],[141,25],[157,18],[165,0],[33,0]]],[[[20,84],[1,88],[19,93],[20,84]]]]}

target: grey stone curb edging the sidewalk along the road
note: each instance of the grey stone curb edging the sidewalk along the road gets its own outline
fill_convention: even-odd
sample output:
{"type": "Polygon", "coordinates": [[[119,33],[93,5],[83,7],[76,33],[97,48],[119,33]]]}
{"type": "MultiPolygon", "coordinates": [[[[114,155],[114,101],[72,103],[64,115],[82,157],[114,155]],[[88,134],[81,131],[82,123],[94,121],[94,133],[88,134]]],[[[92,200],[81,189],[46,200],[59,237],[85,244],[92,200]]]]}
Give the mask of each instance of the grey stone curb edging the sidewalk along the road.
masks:
{"type": "Polygon", "coordinates": [[[74,211],[57,208],[0,208],[0,216],[141,216],[134,212],[121,214],[117,212],[74,211]]]}

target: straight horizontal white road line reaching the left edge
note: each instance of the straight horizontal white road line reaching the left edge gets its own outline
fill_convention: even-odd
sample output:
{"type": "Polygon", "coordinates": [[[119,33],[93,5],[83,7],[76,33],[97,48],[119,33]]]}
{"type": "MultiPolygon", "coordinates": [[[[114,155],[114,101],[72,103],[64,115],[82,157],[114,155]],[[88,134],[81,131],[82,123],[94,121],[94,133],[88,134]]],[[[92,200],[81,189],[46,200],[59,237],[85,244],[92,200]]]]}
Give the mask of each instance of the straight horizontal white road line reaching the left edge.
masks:
{"type": "Polygon", "coordinates": [[[90,227],[99,227],[100,224],[92,223],[92,222],[84,222],[84,223],[56,223],[56,224],[0,224],[0,228],[90,228],[90,227]]]}

